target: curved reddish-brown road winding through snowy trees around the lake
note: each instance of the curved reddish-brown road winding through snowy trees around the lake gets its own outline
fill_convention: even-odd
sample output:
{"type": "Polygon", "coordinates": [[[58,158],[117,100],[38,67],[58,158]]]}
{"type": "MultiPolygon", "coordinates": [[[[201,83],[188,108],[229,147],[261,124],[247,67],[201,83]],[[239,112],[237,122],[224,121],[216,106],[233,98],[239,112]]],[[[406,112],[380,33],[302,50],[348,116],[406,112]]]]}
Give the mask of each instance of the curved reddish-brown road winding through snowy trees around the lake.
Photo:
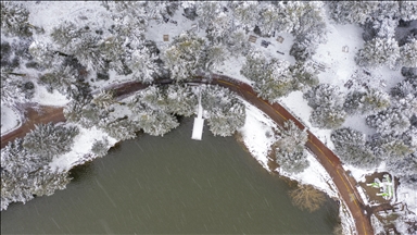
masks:
{"type": "MultiPolygon", "coordinates": [[[[172,81],[160,81],[157,84],[169,84],[172,81]]],[[[270,104],[268,101],[258,98],[256,92],[248,84],[232,79],[231,77],[211,74],[211,77],[195,76],[191,83],[200,84],[216,84],[237,92],[240,97],[265,112],[270,119],[273,119],[278,125],[282,126],[287,120],[292,120],[300,128],[304,129],[304,125],[295,119],[290,112],[288,112],[279,103],[270,104]]],[[[135,92],[139,89],[146,88],[148,85],[143,85],[138,82],[128,82],[119,84],[117,86],[110,87],[114,89],[116,97],[122,98],[135,92]]],[[[108,88],[109,89],[109,88],[108,88]]],[[[39,123],[59,123],[65,122],[63,115],[63,108],[54,107],[39,107],[41,111],[35,111],[35,109],[28,109],[27,119],[21,127],[1,136],[1,148],[3,148],[9,141],[12,141],[16,137],[24,137],[35,124],[39,123]]],[[[359,194],[355,187],[357,185],[353,177],[346,175],[346,172],[341,165],[339,158],[327,148],[313,133],[307,131],[308,141],[305,146],[315,154],[317,160],[326,169],[329,175],[332,177],[334,185],[338,187],[340,197],[343,199],[344,205],[350,210],[354,218],[356,232],[359,235],[374,234],[372,226],[370,225],[369,217],[365,211],[365,206],[359,197],[359,194]]]]}

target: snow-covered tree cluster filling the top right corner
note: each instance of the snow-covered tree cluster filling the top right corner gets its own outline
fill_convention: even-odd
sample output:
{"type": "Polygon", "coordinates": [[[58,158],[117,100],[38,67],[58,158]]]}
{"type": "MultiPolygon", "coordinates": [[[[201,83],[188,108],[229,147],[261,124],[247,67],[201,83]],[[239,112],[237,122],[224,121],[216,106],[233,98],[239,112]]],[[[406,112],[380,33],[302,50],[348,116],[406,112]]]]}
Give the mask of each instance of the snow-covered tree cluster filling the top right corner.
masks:
{"type": "Polygon", "coordinates": [[[364,48],[356,54],[358,65],[391,69],[417,66],[416,37],[409,35],[400,47],[395,28],[400,21],[417,20],[417,3],[414,1],[332,1],[331,17],[341,24],[359,24],[364,27],[364,48]]]}

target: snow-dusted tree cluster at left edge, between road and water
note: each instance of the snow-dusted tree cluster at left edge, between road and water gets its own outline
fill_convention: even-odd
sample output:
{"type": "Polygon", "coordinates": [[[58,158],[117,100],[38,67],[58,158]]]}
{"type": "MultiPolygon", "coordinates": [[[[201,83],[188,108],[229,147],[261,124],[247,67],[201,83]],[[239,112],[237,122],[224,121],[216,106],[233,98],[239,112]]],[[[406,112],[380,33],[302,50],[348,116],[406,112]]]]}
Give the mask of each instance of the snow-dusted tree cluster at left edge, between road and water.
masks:
{"type": "Polygon", "coordinates": [[[11,202],[26,202],[34,196],[52,195],[70,183],[68,172],[51,169],[53,158],[71,150],[75,126],[41,124],[23,139],[1,149],[1,210],[11,202]]]}

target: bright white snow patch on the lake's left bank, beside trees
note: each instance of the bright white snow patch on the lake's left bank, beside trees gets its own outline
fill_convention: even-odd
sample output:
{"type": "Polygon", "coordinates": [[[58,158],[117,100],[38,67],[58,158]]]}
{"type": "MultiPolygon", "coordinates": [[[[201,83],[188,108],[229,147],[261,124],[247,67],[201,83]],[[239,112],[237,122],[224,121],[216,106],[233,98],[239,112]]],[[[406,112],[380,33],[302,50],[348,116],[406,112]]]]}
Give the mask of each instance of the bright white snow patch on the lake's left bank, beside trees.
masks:
{"type": "Polygon", "coordinates": [[[86,161],[92,160],[91,147],[96,140],[101,140],[104,137],[109,139],[109,148],[114,146],[116,139],[110,137],[103,131],[98,129],[96,126],[87,129],[78,125],[79,134],[74,138],[74,145],[70,152],[54,158],[50,163],[52,169],[60,169],[61,171],[68,171],[77,164],[83,164],[86,161]]]}

